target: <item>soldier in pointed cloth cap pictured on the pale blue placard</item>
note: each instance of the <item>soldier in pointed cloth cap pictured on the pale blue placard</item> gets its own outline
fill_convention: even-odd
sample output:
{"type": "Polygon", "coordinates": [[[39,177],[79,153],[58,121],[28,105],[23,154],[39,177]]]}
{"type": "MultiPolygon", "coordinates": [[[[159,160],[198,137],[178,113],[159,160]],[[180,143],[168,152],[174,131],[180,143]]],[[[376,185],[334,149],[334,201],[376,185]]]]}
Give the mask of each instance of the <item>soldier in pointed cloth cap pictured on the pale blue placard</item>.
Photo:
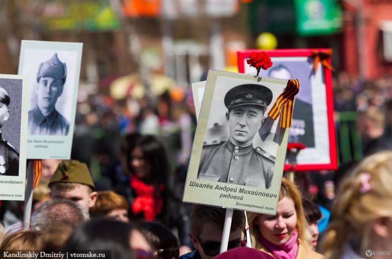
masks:
{"type": "Polygon", "coordinates": [[[66,78],[67,67],[56,53],[41,63],[37,73],[37,106],[29,111],[30,135],[68,135],[69,122],[55,107],[66,78]]]}

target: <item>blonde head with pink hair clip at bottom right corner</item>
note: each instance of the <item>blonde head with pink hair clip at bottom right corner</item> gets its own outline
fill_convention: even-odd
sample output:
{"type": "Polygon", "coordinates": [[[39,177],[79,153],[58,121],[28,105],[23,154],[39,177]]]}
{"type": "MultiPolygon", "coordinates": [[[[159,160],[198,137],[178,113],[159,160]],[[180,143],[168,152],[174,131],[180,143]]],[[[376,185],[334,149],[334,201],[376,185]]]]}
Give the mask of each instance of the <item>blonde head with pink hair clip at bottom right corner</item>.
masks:
{"type": "Polygon", "coordinates": [[[392,152],[363,159],[339,185],[332,218],[322,241],[327,258],[340,257],[347,244],[360,256],[389,250],[392,243],[392,152]]]}

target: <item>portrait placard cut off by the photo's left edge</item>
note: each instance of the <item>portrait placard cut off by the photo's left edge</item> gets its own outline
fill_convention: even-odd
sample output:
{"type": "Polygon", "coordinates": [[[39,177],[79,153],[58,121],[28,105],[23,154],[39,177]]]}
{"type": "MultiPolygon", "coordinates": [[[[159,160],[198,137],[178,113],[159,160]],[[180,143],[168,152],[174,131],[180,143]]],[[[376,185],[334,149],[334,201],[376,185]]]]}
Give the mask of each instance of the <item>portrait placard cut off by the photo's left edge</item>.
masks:
{"type": "Polygon", "coordinates": [[[0,75],[0,200],[24,200],[29,78],[0,75]]]}

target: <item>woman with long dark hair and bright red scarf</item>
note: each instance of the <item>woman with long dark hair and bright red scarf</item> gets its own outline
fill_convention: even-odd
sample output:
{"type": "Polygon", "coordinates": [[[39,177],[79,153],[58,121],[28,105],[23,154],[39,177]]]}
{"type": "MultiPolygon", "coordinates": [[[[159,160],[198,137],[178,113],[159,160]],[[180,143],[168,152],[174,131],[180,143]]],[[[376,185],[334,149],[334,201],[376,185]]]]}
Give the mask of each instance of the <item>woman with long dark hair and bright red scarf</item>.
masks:
{"type": "Polygon", "coordinates": [[[174,191],[174,180],[167,151],[152,135],[140,136],[128,153],[130,171],[130,218],[158,221],[169,229],[177,228],[181,249],[192,245],[187,237],[190,231],[182,193],[174,191]]]}

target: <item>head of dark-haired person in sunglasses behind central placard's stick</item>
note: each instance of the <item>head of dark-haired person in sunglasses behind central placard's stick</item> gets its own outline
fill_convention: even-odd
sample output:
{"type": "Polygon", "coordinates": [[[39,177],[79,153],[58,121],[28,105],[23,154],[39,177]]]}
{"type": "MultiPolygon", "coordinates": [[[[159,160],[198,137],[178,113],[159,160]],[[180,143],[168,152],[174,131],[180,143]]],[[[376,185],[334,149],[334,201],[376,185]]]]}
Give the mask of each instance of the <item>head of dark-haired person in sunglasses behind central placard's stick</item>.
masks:
{"type": "MultiPolygon", "coordinates": [[[[221,249],[226,209],[193,204],[190,212],[189,237],[203,259],[213,258],[221,249]]],[[[234,210],[227,249],[245,246],[245,213],[234,210]]]]}

